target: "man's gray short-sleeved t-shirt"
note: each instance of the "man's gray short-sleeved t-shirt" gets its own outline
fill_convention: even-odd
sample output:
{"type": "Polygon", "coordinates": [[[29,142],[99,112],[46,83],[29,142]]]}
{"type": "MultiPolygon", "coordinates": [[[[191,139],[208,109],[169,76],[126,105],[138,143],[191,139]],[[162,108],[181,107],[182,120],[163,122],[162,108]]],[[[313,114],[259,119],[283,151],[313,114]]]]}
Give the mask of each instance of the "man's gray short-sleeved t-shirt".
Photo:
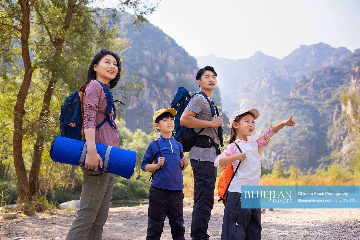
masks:
{"type": "MultiPolygon", "coordinates": [[[[210,121],[213,117],[211,115],[211,108],[209,102],[201,94],[193,96],[190,99],[189,104],[185,108],[185,110],[196,113],[197,115],[195,116],[195,118],[200,120],[210,121]]],[[[195,132],[199,132],[201,128],[194,128],[194,130],[195,132]]],[[[217,128],[207,127],[199,135],[206,135],[212,137],[216,144],[219,144],[220,142],[219,136],[217,136],[217,128]]],[[[190,150],[189,158],[200,161],[214,162],[216,158],[216,149],[214,146],[212,146],[212,148],[200,148],[193,146],[190,150]]]]}

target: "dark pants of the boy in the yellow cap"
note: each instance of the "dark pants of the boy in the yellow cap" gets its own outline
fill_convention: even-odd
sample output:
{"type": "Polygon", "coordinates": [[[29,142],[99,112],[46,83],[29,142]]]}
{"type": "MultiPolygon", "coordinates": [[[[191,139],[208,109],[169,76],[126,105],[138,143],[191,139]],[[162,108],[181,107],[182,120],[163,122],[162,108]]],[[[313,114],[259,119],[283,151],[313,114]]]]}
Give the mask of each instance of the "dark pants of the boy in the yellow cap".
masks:
{"type": "Polygon", "coordinates": [[[168,190],[150,186],[147,240],[160,239],[166,216],[169,219],[172,239],[185,239],[183,200],[184,193],[182,190],[168,190]]]}

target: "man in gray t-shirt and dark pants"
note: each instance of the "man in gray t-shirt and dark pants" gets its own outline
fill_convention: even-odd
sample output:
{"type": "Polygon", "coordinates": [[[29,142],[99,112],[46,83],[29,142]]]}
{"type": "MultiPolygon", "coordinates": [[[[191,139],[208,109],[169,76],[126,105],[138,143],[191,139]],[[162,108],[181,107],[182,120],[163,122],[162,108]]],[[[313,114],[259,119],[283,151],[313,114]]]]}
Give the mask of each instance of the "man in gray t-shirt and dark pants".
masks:
{"type": "MultiPolygon", "coordinates": [[[[216,88],[216,76],[211,66],[200,69],[196,75],[200,91],[210,99],[216,88]]],[[[205,128],[200,135],[211,137],[215,142],[211,148],[193,146],[189,155],[194,173],[194,207],[190,236],[193,240],[209,239],[207,228],[214,205],[217,175],[213,162],[219,154],[219,144],[222,145],[222,120],[219,116],[212,115],[208,100],[203,95],[197,94],[190,99],[181,115],[180,124],[194,128],[195,132],[205,128]]]]}

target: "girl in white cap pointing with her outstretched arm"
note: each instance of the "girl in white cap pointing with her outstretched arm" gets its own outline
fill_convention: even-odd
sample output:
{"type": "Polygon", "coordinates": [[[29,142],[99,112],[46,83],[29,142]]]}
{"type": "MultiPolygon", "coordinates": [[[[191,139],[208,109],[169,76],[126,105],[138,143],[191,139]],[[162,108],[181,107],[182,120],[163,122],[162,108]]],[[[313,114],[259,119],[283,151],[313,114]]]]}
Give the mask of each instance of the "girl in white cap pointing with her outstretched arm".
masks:
{"type": "Polygon", "coordinates": [[[215,167],[239,164],[230,183],[225,201],[224,219],[222,221],[221,239],[261,239],[261,209],[241,208],[241,185],[260,185],[261,162],[260,153],[271,137],[284,126],[294,126],[292,116],[275,126],[270,127],[256,141],[247,139],[255,130],[255,119],[260,115],[255,108],[238,110],[230,117],[231,128],[229,145],[215,159],[215,167]],[[243,153],[240,153],[237,144],[243,153]]]}

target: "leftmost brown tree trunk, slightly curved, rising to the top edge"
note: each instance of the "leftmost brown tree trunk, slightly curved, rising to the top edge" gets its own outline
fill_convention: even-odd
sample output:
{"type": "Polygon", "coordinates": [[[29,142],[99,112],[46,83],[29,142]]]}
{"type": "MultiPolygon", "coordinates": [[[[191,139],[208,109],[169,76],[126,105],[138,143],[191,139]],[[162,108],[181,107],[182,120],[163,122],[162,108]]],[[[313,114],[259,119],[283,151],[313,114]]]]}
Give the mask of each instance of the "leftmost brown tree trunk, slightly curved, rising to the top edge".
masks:
{"type": "MultiPolygon", "coordinates": [[[[26,176],[26,169],[22,155],[22,139],[23,139],[23,117],[25,115],[24,104],[27,92],[29,90],[33,67],[31,66],[31,59],[29,53],[29,34],[30,34],[30,5],[28,1],[19,0],[22,12],[21,21],[21,56],[24,62],[24,78],[21,84],[19,93],[17,95],[16,104],[14,107],[14,136],[13,136],[13,154],[14,167],[19,186],[19,196],[25,196],[28,192],[28,182],[26,176]]],[[[31,200],[31,196],[27,195],[31,200]]]]}

